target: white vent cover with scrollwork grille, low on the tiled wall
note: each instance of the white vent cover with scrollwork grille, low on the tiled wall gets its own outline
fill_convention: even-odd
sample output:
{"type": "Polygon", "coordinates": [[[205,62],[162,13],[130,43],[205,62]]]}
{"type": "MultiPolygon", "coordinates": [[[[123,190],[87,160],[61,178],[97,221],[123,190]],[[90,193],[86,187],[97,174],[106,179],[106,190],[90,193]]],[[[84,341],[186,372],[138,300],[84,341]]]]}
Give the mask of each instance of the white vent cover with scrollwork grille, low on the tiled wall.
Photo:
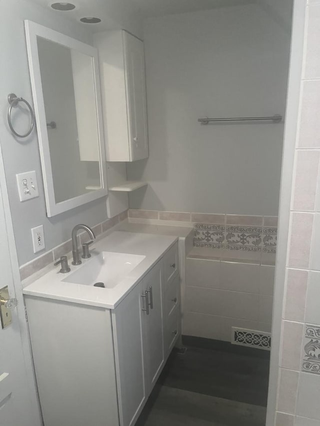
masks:
{"type": "Polygon", "coordinates": [[[271,333],[232,327],[231,343],[233,345],[250,346],[251,348],[271,349],[271,333]]]}

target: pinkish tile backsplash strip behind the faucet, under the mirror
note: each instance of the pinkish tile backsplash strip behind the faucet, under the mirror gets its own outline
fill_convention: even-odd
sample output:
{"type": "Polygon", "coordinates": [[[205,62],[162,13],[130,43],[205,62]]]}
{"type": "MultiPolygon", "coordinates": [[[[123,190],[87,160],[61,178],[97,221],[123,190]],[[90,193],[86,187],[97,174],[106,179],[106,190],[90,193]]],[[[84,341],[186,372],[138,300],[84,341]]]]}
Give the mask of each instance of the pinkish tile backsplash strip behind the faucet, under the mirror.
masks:
{"type": "MultiPolygon", "coordinates": [[[[127,219],[127,211],[124,211],[117,216],[107,219],[97,225],[92,227],[92,230],[96,237],[102,238],[105,236],[105,233],[109,231],[112,227],[116,226],[119,222],[127,219]]],[[[70,229],[71,235],[71,229],[70,229]]],[[[86,232],[81,232],[78,234],[78,245],[81,245],[88,241],[88,235],[86,232]]],[[[40,271],[41,269],[48,266],[53,261],[56,261],[60,256],[68,254],[72,250],[72,241],[67,240],[62,244],[59,244],[48,252],[42,254],[41,256],[33,259],[30,262],[25,263],[20,266],[20,279],[21,281],[28,278],[30,275],[40,271]]]]}

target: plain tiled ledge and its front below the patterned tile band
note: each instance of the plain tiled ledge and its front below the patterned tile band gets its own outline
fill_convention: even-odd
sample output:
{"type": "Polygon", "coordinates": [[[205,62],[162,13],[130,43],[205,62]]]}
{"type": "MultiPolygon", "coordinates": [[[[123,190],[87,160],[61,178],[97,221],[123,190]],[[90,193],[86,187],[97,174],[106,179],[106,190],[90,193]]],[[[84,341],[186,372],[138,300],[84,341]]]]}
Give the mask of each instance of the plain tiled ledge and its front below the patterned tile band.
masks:
{"type": "Polygon", "coordinates": [[[223,253],[194,247],[187,256],[183,334],[230,342],[232,327],[269,333],[274,266],[212,258],[203,250],[223,253]]]}

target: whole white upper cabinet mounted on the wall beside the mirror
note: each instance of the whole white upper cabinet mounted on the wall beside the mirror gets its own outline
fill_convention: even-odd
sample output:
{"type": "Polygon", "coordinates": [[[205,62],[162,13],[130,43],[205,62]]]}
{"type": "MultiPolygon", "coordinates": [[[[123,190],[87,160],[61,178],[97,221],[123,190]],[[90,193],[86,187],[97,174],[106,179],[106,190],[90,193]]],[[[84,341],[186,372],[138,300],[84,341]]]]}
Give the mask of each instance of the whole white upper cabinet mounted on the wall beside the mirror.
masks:
{"type": "Polygon", "coordinates": [[[143,42],[126,31],[94,34],[107,161],[148,157],[143,42]]]}

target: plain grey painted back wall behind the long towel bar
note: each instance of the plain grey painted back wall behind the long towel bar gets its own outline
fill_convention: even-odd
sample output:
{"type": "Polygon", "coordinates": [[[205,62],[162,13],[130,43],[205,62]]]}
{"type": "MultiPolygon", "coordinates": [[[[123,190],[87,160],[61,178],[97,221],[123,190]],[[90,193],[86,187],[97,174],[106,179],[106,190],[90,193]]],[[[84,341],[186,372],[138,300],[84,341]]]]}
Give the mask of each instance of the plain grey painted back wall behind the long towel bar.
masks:
{"type": "Polygon", "coordinates": [[[150,157],[127,174],[149,185],[130,194],[131,208],[277,214],[283,124],[196,121],[284,115],[290,31],[264,9],[145,21],[150,157]]]}

